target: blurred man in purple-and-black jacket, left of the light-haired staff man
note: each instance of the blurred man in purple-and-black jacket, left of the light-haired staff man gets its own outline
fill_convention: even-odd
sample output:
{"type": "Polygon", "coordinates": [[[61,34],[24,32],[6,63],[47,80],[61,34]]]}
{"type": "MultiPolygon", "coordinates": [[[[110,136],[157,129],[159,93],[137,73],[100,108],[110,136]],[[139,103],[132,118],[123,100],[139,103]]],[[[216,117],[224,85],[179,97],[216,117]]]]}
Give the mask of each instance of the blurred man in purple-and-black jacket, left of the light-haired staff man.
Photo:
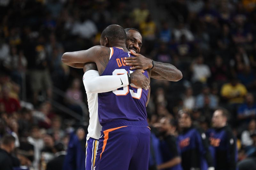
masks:
{"type": "Polygon", "coordinates": [[[179,126],[181,133],[178,141],[183,170],[214,170],[206,135],[192,125],[186,110],[179,112],[179,126]]]}

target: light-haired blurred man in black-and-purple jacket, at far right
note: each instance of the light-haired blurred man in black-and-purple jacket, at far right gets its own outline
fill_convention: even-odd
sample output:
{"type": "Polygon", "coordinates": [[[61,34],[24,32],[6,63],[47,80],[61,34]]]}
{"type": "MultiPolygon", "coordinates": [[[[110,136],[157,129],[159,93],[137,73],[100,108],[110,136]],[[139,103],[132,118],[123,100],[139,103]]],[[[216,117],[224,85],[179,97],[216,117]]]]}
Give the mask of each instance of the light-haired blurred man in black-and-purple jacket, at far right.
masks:
{"type": "Polygon", "coordinates": [[[228,111],[217,109],[212,116],[212,125],[207,133],[211,143],[211,151],[215,161],[215,170],[236,170],[236,139],[227,125],[228,111]]]}

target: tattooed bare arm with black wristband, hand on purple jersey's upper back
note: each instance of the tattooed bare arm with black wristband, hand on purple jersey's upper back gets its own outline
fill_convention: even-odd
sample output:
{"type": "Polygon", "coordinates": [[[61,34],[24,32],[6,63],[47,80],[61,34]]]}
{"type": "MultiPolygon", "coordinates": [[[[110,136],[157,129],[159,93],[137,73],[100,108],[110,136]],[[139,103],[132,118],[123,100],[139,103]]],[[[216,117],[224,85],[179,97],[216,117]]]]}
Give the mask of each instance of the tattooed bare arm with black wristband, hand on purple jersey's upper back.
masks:
{"type": "Polygon", "coordinates": [[[135,57],[124,58],[125,60],[124,63],[126,63],[126,65],[131,66],[131,70],[151,69],[154,63],[154,67],[151,70],[151,75],[150,75],[151,78],[168,80],[168,81],[179,81],[182,78],[181,71],[178,70],[172,64],[155,62],[143,55],[136,54],[132,51],[131,51],[131,54],[134,55],[135,57]]]}

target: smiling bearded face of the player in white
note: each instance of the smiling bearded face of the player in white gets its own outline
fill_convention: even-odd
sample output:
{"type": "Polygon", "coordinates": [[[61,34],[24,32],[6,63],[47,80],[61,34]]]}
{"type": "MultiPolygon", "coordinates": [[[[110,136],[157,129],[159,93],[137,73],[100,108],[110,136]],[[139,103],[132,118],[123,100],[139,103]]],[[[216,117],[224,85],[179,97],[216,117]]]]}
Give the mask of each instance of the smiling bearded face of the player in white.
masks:
{"type": "Polygon", "coordinates": [[[129,30],[126,33],[126,47],[130,51],[135,53],[140,53],[140,48],[142,46],[142,37],[140,33],[136,30],[129,30]]]}

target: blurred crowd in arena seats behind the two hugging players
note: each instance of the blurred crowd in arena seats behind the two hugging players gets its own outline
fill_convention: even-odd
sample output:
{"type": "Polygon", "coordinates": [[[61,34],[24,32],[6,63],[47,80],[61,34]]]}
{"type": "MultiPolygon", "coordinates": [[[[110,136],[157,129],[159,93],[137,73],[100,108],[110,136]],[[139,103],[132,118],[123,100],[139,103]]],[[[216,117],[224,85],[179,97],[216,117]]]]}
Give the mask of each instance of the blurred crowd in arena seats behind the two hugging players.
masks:
{"type": "Polygon", "coordinates": [[[256,157],[256,1],[0,0],[0,22],[1,149],[14,142],[7,150],[15,166],[57,170],[52,161],[68,159],[67,148],[81,143],[84,152],[88,116],[77,123],[52,103],[78,115],[87,109],[83,70],[61,56],[99,45],[110,24],[140,30],[142,55],[182,71],[179,82],[151,80],[147,112],[157,140],[166,119],[180,135],[181,109],[207,132],[223,107],[237,160],[256,157]]]}

